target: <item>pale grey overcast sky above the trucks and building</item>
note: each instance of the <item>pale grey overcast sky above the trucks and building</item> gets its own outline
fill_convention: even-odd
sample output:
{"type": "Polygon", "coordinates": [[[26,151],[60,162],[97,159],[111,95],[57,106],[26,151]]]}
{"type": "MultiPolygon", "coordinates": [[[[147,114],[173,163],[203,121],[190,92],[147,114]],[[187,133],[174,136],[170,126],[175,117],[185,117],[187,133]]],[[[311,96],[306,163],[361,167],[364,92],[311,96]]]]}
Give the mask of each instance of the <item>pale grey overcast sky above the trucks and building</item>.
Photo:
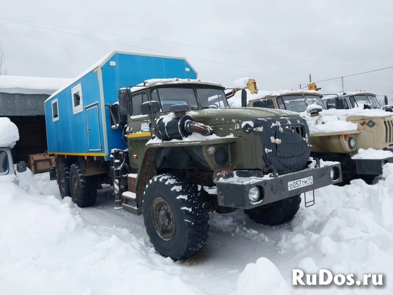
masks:
{"type": "MultiPolygon", "coordinates": [[[[230,87],[250,77],[263,90],[298,89],[309,73],[320,81],[393,66],[393,0],[0,0],[0,7],[0,17],[22,23],[134,37],[29,23],[127,46],[0,19],[8,75],[73,78],[111,50],[184,56],[203,80],[230,87]]],[[[318,87],[338,92],[341,81],[318,87]]],[[[356,89],[393,100],[393,68],[344,78],[345,91],[356,89]]]]}

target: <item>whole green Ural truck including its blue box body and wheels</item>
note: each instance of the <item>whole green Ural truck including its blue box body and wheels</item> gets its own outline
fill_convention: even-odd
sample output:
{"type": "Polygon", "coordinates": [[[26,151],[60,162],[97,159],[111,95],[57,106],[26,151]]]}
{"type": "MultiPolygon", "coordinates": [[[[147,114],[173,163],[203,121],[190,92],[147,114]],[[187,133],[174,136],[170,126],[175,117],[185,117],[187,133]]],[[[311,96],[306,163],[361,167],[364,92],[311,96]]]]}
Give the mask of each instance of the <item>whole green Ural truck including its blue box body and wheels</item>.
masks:
{"type": "MultiPolygon", "coordinates": [[[[131,64],[127,64],[124,59],[119,62],[121,57],[116,59],[116,53],[109,55],[92,67],[93,74],[88,71],[92,80],[80,77],[46,102],[52,106],[46,107],[48,146],[57,148],[62,196],[70,193],[79,206],[92,206],[98,185],[113,184],[115,207],[143,214],[156,250],[180,260],[197,254],[205,245],[209,211],[242,208],[258,223],[277,225],[296,214],[302,193],[341,181],[339,163],[324,165],[317,158],[310,160],[309,128],[298,114],[231,109],[225,88],[197,79],[191,65],[184,65],[185,59],[172,64],[170,70],[180,79],[148,80],[160,75],[166,78],[173,58],[148,56],[168,60],[144,64],[132,61],[137,57],[128,58],[131,64]],[[112,69],[114,81],[106,74],[111,63],[124,70],[117,75],[112,69]],[[187,77],[190,72],[194,77],[187,77]],[[119,87],[116,79],[123,85],[119,87]],[[137,85],[135,80],[142,83],[137,85]],[[111,91],[105,92],[109,88],[111,91]],[[83,89],[83,107],[77,113],[82,121],[73,129],[77,121],[71,112],[75,99],[82,104],[82,98],[74,95],[82,90],[75,89],[83,89]],[[92,101],[97,99],[94,93],[102,89],[101,100],[92,101]],[[54,101],[61,108],[54,108],[54,101]],[[95,107],[97,113],[90,115],[89,110],[95,107]],[[94,126],[90,120],[95,116],[99,126],[104,120],[107,127],[102,147],[89,140],[94,126]],[[58,134],[51,132],[55,124],[57,130],[71,130],[61,139],[53,138],[58,134]],[[115,144],[109,130],[118,131],[112,137],[118,136],[115,144]],[[91,151],[95,154],[90,150],[71,152],[81,143],[86,149],[90,145],[101,148],[103,154],[95,150],[91,151]]],[[[306,206],[313,202],[306,202],[306,206]]]]}

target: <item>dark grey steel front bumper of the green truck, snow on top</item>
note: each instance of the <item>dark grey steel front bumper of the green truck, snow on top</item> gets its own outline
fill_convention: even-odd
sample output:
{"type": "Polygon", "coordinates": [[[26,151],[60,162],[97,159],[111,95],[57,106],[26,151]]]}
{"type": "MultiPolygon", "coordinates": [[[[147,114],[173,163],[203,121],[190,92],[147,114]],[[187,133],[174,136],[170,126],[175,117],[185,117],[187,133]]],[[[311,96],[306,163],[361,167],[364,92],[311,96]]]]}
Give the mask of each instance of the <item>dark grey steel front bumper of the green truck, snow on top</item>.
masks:
{"type": "Polygon", "coordinates": [[[342,181],[341,164],[334,163],[319,168],[307,168],[298,172],[280,175],[279,177],[263,176],[259,171],[223,169],[215,172],[218,205],[250,209],[263,206],[282,199],[290,198],[320,187],[342,181]],[[330,172],[337,167],[337,180],[332,180],[330,172]],[[301,188],[288,190],[288,181],[305,177],[313,177],[313,183],[301,188]],[[248,198],[252,186],[258,186],[263,198],[258,202],[251,202],[248,198]]]}

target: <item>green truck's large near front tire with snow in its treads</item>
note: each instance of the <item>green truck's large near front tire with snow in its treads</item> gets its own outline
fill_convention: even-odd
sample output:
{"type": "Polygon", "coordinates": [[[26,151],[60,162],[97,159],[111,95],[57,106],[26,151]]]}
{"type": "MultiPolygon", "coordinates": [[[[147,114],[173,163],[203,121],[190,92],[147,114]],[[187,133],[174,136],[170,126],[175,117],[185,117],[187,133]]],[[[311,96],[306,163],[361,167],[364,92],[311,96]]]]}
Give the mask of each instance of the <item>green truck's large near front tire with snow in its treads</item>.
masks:
{"type": "Polygon", "coordinates": [[[197,254],[206,244],[209,215],[197,185],[184,176],[160,174],[149,180],[143,193],[143,218],[151,243],[164,257],[170,257],[174,261],[187,259],[197,254]],[[164,229],[172,235],[168,239],[164,239],[156,230],[156,227],[162,229],[165,224],[156,224],[154,221],[154,211],[160,207],[154,205],[157,202],[166,203],[165,206],[170,207],[163,214],[164,221],[174,220],[174,230],[164,229]]]}

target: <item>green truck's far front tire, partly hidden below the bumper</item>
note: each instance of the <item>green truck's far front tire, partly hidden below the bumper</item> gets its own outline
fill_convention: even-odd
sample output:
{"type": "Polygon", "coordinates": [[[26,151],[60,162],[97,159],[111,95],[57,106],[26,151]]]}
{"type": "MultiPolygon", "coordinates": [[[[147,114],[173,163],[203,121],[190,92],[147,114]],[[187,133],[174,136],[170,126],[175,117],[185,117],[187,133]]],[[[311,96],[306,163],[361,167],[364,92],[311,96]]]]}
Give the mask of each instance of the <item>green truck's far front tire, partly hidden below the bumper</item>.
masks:
{"type": "Polygon", "coordinates": [[[253,221],[264,225],[279,225],[291,220],[299,210],[300,195],[282,199],[265,206],[244,210],[253,221]]]}

